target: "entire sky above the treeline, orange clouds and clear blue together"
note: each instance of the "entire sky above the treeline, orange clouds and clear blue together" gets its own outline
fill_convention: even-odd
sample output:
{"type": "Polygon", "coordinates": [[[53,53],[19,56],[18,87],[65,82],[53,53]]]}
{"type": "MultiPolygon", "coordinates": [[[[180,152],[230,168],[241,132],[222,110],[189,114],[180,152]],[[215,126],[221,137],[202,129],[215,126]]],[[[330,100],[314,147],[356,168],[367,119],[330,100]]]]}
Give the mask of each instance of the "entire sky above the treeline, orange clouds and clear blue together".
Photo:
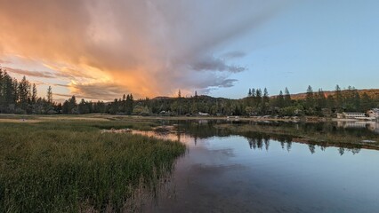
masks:
{"type": "Polygon", "coordinates": [[[379,88],[378,1],[0,0],[0,65],[72,95],[379,88]]]}

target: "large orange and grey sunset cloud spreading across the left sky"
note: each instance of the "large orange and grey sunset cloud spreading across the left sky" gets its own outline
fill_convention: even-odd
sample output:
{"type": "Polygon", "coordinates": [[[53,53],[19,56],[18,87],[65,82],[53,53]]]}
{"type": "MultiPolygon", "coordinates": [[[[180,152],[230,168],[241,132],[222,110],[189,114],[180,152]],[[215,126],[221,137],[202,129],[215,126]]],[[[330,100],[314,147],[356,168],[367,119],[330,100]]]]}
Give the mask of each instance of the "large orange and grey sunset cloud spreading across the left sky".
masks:
{"type": "Polygon", "coordinates": [[[87,99],[230,87],[237,82],[230,75],[246,67],[228,60],[246,53],[217,57],[222,45],[269,20],[280,5],[257,2],[209,1],[205,9],[168,0],[1,1],[0,56],[39,61],[53,72],[7,69],[65,79],[71,94],[87,99]]]}

